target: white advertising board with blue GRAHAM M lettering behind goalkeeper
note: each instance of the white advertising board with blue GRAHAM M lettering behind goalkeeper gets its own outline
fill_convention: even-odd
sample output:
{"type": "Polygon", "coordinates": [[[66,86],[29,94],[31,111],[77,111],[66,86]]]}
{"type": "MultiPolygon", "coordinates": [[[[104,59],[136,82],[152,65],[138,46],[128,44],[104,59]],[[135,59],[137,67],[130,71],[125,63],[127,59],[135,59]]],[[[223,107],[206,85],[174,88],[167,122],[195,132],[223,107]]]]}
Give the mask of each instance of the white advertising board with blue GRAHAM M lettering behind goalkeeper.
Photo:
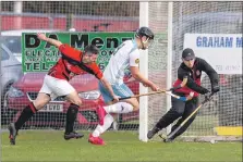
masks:
{"type": "Polygon", "coordinates": [[[242,74],[242,34],[184,35],[184,49],[193,49],[219,74],[242,74]]]}

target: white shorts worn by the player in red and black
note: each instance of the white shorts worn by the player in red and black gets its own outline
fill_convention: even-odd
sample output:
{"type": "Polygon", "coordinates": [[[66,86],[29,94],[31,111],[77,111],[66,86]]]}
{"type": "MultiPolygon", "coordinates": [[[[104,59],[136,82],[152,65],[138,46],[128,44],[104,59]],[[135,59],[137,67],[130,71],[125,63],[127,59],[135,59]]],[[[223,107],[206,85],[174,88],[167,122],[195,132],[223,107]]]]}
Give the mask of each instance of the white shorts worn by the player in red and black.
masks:
{"type": "Polygon", "coordinates": [[[46,75],[44,78],[44,84],[39,92],[45,92],[50,95],[51,100],[60,96],[66,96],[75,91],[73,86],[69,82],[60,78],[46,75]]]}

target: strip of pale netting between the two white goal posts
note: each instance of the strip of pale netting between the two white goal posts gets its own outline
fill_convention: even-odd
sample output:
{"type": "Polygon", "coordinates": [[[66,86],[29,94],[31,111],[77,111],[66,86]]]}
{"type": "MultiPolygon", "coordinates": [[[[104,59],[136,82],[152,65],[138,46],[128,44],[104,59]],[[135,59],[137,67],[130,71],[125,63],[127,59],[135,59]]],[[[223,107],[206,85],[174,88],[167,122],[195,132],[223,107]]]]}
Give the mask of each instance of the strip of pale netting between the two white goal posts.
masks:
{"type": "MultiPolygon", "coordinates": [[[[168,2],[149,3],[149,27],[155,32],[155,42],[148,50],[148,78],[160,88],[167,86],[167,26],[168,2]]],[[[167,109],[166,95],[148,97],[148,128],[162,116],[167,109]]]]}

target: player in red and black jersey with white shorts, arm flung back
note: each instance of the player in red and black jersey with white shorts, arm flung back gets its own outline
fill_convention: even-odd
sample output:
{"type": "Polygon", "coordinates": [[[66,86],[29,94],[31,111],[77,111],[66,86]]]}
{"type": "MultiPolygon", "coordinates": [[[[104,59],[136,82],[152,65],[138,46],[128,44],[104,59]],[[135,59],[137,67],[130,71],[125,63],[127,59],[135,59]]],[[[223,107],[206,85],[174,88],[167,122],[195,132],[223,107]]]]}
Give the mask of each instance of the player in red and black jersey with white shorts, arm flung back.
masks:
{"type": "Polygon", "coordinates": [[[17,132],[24,123],[27,122],[38,110],[42,109],[51,99],[59,96],[65,97],[65,99],[71,102],[66,112],[64,139],[82,138],[84,136],[73,129],[78,108],[82,104],[82,100],[80,99],[77,91],[69,83],[69,80],[75,75],[84,73],[95,75],[109,90],[114,101],[119,101],[110,84],[104,77],[102,72],[96,64],[99,53],[99,49],[96,46],[88,45],[85,47],[84,51],[80,51],[66,43],[62,43],[59,40],[48,38],[45,34],[37,34],[37,37],[38,39],[57,47],[62,57],[45,76],[42,87],[39,90],[36,100],[29,102],[29,104],[24,108],[15,123],[11,123],[9,125],[11,145],[15,145],[17,132]]]}

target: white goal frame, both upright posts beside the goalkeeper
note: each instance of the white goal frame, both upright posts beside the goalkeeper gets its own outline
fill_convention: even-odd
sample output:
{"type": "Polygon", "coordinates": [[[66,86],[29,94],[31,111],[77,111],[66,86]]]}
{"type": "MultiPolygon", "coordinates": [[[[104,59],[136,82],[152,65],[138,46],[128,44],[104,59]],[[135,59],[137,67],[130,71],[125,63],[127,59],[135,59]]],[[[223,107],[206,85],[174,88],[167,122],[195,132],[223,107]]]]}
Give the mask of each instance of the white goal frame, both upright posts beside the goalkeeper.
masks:
{"type": "MultiPolygon", "coordinates": [[[[168,57],[167,57],[167,88],[172,83],[172,16],[173,2],[168,2],[168,57]]],[[[148,26],[148,2],[139,2],[139,26],[148,26]]],[[[148,26],[149,27],[149,26],[148,26]]],[[[153,49],[151,49],[153,50],[153,49]]],[[[139,71],[148,77],[148,50],[141,51],[139,71]]],[[[139,84],[139,94],[148,92],[148,88],[139,84]]],[[[171,108],[171,98],[167,96],[167,111],[171,108]]],[[[171,130],[171,125],[167,127],[167,134],[171,130]]],[[[148,141],[148,97],[139,98],[139,140],[148,141]]]]}

